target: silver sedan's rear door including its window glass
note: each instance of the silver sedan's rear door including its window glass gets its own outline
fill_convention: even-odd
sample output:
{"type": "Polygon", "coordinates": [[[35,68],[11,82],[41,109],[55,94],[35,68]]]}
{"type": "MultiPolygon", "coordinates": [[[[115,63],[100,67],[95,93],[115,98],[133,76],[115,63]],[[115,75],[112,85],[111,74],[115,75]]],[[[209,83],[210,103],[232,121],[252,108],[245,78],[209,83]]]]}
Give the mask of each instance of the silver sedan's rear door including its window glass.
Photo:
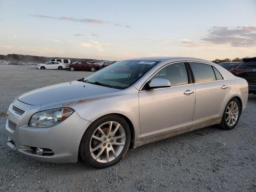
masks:
{"type": "Polygon", "coordinates": [[[190,62],[192,78],[196,88],[193,126],[220,120],[223,106],[228,102],[230,84],[214,66],[190,62]]]}

